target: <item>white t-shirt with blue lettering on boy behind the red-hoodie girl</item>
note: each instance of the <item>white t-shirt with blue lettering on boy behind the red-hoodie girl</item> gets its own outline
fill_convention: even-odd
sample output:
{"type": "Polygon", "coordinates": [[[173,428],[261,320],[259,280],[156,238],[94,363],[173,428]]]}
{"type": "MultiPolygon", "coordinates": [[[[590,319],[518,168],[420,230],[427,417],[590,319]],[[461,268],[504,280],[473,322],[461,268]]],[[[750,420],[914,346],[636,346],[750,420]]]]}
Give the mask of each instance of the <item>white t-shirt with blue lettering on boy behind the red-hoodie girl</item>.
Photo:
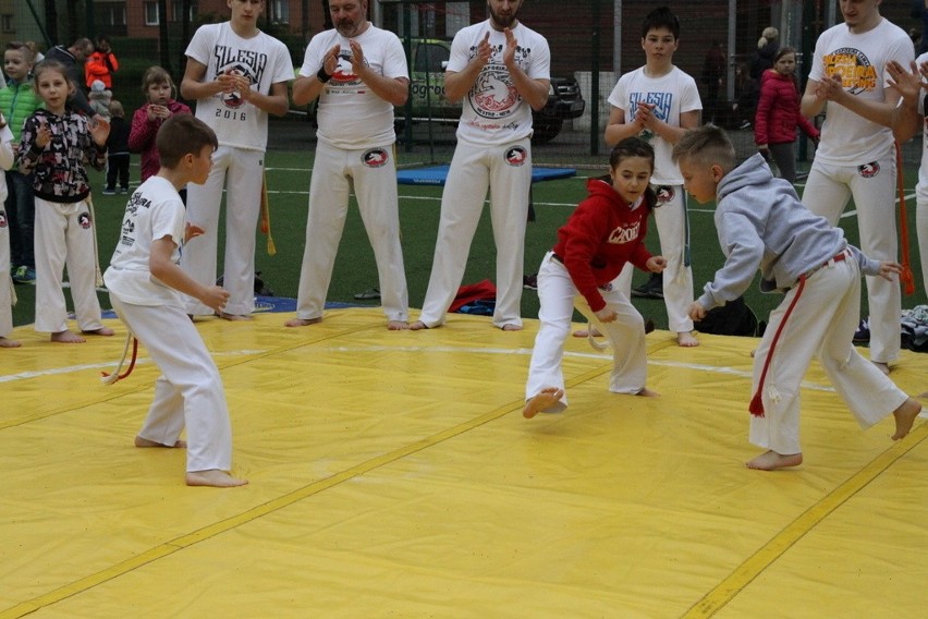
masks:
{"type": "MultiPolygon", "coordinates": [[[[626,123],[634,120],[638,102],[654,104],[655,116],[670,126],[680,126],[680,114],[683,112],[703,109],[696,81],[676,66],[661,77],[648,77],[644,66],[625,73],[619,78],[608,100],[611,106],[625,112],[626,123]]],[[[638,136],[649,142],[655,149],[651,184],[682,185],[683,174],[671,157],[673,144],[650,130],[643,131],[638,136]]]]}

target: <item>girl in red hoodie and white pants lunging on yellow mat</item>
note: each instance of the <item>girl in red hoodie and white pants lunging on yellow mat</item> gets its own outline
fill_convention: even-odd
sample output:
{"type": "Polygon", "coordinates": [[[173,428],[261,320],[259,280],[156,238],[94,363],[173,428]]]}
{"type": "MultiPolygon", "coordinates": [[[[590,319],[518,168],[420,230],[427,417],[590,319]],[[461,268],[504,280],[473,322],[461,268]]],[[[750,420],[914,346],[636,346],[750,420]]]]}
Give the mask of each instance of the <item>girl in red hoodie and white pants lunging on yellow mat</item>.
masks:
{"type": "Polygon", "coordinates": [[[561,360],[574,307],[612,344],[609,390],[657,396],[645,386],[645,321],[625,294],[610,283],[625,263],[651,272],[667,266],[667,260],[652,256],[644,243],[648,215],[657,203],[649,186],[654,167],[655,153],[648,143],[628,137],[616,144],[609,156],[610,181],[587,182],[589,196],[558,230],[554,250],[541,260],[540,326],[525,386],[522,414],[526,418],[567,406],[561,360]]]}

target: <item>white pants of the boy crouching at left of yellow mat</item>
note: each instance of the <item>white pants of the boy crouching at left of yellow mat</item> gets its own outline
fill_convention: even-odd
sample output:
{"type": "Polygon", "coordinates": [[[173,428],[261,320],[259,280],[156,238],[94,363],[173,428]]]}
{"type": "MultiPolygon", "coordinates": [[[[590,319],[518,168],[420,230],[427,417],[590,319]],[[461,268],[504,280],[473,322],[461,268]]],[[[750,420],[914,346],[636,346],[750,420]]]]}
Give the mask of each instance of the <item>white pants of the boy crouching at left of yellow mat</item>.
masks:
{"type": "Polygon", "coordinates": [[[138,436],[173,446],[187,428],[187,471],[232,468],[232,426],[222,379],[181,307],[134,305],[110,294],[113,308],[161,371],[138,436]]]}

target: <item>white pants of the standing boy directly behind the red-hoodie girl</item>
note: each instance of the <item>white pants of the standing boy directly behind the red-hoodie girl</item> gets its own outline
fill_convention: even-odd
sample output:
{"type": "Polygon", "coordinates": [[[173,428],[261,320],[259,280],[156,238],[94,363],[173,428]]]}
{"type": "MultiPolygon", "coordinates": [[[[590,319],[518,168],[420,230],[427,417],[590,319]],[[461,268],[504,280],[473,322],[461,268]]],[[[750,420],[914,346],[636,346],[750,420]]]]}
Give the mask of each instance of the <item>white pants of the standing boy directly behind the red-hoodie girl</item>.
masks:
{"type": "MultiPolygon", "coordinates": [[[[675,332],[693,330],[693,319],[689,317],[689,304],[693,303],[693,268],[686,264],[685,251],[687,245],[686,227],[686,193],[682,186],[664,185],[672,192],[667,202],[658,202],[655,208],[655,224],[660,239],[660,253],[667,259],[663,269],[663,303],[667,306],[668,329],[675,332]]],[[[663,192],[659,193],[661,197],[663,192]]],[[[632,296],[632,275],[635,266],[625,265],[613,286],[632,296]]]]}

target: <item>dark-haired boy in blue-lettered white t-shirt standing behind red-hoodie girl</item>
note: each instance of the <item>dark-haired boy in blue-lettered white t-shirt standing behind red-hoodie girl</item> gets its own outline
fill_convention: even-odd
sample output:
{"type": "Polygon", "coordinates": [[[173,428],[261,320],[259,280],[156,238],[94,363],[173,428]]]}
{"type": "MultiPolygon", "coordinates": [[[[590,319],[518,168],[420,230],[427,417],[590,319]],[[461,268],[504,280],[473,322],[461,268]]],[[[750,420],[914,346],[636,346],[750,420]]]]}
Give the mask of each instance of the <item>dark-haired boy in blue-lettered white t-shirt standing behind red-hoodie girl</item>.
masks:
{"type": "MultiPolygon", "coordinates": [[[[612,146],[626,137],[640,136],[655,149],[651,185],[658,196],[655,222],[660,251],[667,258],[663,271],[663,299],[668,328],[676,333],[682,347],[695,347],[693,320],[687,315],[693,303],[693,269],[689,267],[689,239],[686,222],[686,194],[683,177],[671,160],[673,144],[687,129],[699,126],[703,104],[696,82],[673,65],[673,52],[680,46],[680,20],[666,7],[651,11],[642,26],[642,48],[647,63],[625,73],[609,95],[609,124],[606,144],[612,146]]],[[[631,296],[632,265],[616,278],[619,290],[631,296]]]]}

